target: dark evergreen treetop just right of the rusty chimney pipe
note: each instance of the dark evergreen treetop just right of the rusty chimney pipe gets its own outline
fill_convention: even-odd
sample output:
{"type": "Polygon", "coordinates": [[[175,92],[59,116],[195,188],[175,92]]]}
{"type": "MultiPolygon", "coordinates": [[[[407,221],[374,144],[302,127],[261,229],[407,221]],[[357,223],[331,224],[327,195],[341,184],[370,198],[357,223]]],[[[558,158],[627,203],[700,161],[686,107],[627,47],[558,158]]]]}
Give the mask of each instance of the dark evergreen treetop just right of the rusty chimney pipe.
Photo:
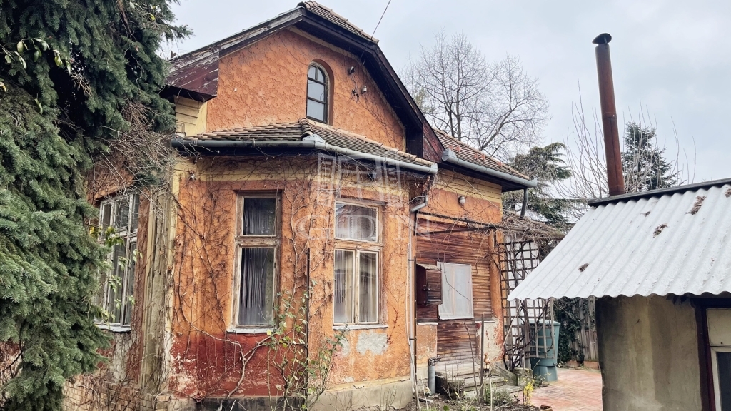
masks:
{"type": "Polygon", "coordinates": [[[626,124],[624,131],[624,186],[627,192],[641,192],[680,184],[673,162],[656,144],[657,129],[639,123],[626,124]]]}

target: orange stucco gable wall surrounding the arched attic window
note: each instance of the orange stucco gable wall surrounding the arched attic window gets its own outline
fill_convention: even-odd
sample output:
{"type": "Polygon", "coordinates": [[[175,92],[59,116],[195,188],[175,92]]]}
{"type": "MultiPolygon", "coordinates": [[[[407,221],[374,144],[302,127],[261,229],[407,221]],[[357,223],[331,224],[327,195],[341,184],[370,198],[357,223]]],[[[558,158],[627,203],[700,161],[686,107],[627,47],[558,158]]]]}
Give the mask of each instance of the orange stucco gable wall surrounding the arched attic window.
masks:
{"type": "Polygon", "coordinates": [[[330,78],[329,124],[405,149],[404,127],[354,56],[307,34],[280,31],[221,59],[218,96],[208,102],[206,130],[305,118],[307,69],[322,63],[330,78]],[[355,67],[352,75],[348,69],[355,67]],[[361,94],[363,86],[368,88],[361,94]],[[356,89],[358,97],[352,94],[356,89]]]}

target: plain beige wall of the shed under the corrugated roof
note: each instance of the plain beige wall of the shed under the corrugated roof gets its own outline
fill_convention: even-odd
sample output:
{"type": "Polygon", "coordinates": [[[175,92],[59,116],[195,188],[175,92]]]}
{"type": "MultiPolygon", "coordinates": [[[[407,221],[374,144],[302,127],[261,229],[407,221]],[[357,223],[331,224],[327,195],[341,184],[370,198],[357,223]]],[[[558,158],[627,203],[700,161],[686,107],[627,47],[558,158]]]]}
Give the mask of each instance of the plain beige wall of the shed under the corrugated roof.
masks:
{"type": "Polygon", "coordinates": [[[701,410],[694,308],[667,298],[596,300],[605,411],[701,410]]]}

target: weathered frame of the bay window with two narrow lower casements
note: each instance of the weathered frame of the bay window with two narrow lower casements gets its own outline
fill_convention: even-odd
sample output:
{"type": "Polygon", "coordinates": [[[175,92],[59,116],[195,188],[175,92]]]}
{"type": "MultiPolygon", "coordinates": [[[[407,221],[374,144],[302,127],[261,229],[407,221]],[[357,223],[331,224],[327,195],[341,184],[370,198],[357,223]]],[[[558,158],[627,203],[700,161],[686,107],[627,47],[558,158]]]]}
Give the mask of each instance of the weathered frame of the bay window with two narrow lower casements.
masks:
{"type": "MultiPolygon", "coordinates": [[[[338,199],[336,201],[336,210],[337,206],[340,204],[348,205],[348,206],[357,206],[357,207],[363,207],[363,208],[370,208],[371,210],[376,211],[376,239],[374,241],[371,240],[354,240],[352,238],[341,238],[337,236],[337,225],[338,220],[337,216],[333,216],[333,219],[335,220],[335,233],[336,233],[336,246],[335,251],[345,251],[345,252],[352,252],[353,253],[353,261],[352,261],[352,278],[350,279],[350,290],[349,290],[349,298],[351,299],[350,304],[350,317],[352,318],[352,321],[345,322],[345,323],[338,323],[335,320],[335,302],[333,301],[333,327],[336,328],[342,328],[344,326],[348,325],[378,325],[381,324],[382,315],[381,315],[381,210],[378,206],[372,206],[370,204],[363,204],[363,203],[357,203],[354,201],[344,200],[344,199],[338,199]],[[376,255],[376,320],[375,321],[362,321],[360,320],[360,253],[361,252],[367,252],[370,254],[376,255]]],[[[333,252],[333,287],[335,284],[335,252],[333,252]]]]}

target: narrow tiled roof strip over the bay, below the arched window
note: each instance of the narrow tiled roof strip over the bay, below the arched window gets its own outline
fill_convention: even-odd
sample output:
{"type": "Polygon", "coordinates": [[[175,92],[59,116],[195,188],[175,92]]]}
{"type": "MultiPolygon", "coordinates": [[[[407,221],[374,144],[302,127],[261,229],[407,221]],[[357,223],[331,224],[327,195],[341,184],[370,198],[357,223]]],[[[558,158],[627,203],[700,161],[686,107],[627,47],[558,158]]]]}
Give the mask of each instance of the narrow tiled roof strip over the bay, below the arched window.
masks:
{"type": "Polygon", "coordinates": [[[373,154],[386,159],[395,159],[413,165],[431,166],[432,162],[421,159],[413,154],[385,146],[362,135],[347,132],[342,129],[319,124],[307,119],[300,119],[291,123],[276,123],[266,126],[235,128],[206,132],[200,135],[186,137],[186,140],[268,140],[298,141],[308,135],[318,135],[325,143],[339,148],[358,151],[363,154],[373,154]]]}

